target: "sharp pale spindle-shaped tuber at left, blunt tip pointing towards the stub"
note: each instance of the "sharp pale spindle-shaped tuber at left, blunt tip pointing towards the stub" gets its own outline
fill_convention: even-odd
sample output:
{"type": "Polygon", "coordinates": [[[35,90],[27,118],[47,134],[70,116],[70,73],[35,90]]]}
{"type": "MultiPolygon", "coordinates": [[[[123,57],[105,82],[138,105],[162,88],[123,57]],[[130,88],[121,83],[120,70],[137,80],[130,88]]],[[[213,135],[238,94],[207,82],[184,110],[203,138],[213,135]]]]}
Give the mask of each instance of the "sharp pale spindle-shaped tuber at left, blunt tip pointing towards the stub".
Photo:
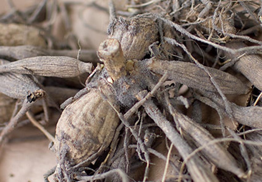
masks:
{"type": "Polygon", "coordinates": [[[91,73],[92,63],[66,56],[38,56],[0,66],[0,73],[5,72],[66,78],[91,73]]]}

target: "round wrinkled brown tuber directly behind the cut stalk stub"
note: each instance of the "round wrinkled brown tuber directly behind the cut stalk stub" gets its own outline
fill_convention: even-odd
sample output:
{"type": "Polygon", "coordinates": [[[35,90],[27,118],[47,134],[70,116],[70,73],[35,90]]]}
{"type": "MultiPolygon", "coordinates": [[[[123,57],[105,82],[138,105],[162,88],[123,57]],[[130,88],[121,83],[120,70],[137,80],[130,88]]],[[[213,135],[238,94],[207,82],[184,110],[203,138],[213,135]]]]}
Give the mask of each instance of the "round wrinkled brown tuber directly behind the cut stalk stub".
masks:
{"type": "Polygon", "coordinates": [[[125,59],[141,60],[149,52],[148,47],[158,39],[158,26],[153,18],[138,15],[130,21],[118,18],[109,25],[109,38],[116,38],[125,59]]]}

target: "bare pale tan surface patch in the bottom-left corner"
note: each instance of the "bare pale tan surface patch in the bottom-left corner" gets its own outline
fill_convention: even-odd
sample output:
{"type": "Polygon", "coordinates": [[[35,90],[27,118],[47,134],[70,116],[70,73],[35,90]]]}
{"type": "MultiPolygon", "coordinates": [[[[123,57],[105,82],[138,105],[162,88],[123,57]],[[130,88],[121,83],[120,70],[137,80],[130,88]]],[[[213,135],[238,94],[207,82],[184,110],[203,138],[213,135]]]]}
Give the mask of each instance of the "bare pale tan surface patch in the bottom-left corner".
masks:
{"type": "MultiPolygon", "coordinates": [[[[54,134],[55,128],[48,130],[54,134]]],[[[56,164],[49,141],[30,124],[9,138],[0,153],[0,182],[43,182],[43,174],[56,164]]]]}

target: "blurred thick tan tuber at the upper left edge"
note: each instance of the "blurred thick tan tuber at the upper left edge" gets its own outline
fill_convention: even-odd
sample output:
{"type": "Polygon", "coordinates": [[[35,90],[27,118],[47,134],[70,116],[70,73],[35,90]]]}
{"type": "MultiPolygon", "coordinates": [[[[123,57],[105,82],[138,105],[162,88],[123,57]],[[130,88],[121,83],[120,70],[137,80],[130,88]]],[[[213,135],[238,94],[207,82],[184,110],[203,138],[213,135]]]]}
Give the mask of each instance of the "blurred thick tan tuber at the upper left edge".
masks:
{"type": "Polygon", "coordinates": [[[20,46],[32,45],[47,47],[46,41],[40,35],[40,30],[33,26],[22,24],[0,24],[0,45],[2,46],[20,46]]]}

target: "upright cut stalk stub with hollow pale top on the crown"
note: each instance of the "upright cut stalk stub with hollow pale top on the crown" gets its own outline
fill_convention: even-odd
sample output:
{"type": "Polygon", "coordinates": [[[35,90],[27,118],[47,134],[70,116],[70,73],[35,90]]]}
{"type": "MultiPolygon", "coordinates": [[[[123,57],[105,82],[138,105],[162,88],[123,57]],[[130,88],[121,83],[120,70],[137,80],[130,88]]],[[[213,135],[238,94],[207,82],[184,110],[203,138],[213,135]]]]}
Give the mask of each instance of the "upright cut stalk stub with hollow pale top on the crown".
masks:
{"type": "Polygon", "coordinates": [[[113,80],[126,75],[125,58],[117,39],[106,39],[98,49],[98,56],[104,62],[108,74],[113,80]]]}

